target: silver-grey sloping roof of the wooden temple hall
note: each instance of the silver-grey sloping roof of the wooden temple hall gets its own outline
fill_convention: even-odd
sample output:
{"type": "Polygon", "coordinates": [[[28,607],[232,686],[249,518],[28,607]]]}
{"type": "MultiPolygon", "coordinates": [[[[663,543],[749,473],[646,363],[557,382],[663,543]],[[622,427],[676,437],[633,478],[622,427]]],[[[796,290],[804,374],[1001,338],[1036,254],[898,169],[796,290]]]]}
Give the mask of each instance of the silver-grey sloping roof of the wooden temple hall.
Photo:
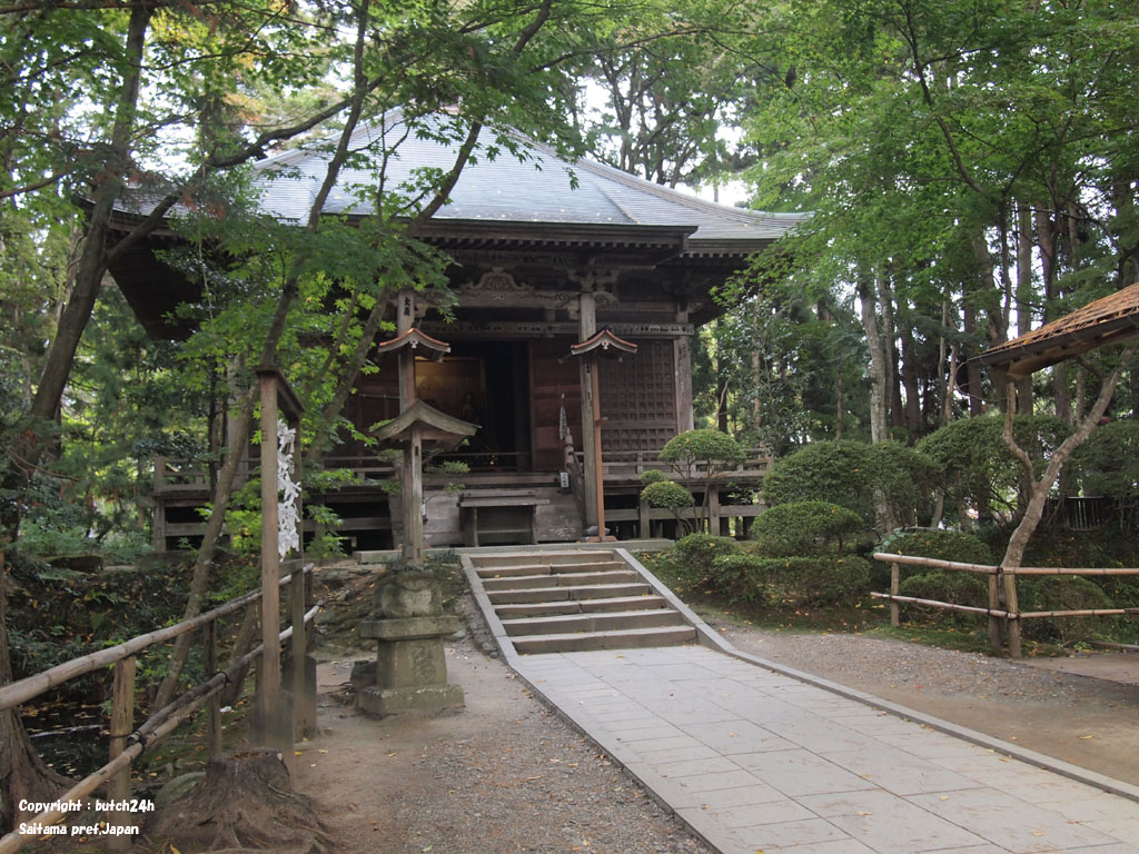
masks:
{"type": "MultiPolygon", "coordinates": [[[[390,114],[384,131],[359,130],[352,148],[378,147],[385,138],[398,139],[407,130],[399,114],[390,114]]],[[[689,246],[699,252],[736,241],[755,241],[752,249],[756,249],[805,219],[802,214],[765,214],[712,204],[599,163],[570,163],[546,146],[517,133],[510,136],[524,159],[507,150],[490,159],[485,150],[478,150],[434,221],[695,227],[689,246]]],[[[481,145],[493,145],[492,137],[484,130],[481,145]]],[[[306,217],[325,174],[327,147],[326,140],[319,148],[300,148],[259,163],[262,207],[282,220],[306,217]]],[[[390,161],[385,186],[393,189],[409,181],[413,170],[448,170],[453,161],[454,146],[411,133],[390,161]]],[[[376,182],[370,169],[345,169],[326,212],[370,215],[374,208],[367,190],[374,190],[376,182]]]]}

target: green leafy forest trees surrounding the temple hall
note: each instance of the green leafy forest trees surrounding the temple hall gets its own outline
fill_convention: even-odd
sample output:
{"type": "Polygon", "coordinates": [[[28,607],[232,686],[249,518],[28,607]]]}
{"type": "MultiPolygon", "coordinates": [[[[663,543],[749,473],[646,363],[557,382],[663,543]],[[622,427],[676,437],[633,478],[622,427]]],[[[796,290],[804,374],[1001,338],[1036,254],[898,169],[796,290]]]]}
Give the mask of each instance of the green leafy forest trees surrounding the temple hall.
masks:
{"type": "MultiPolygon", "coordinates": [[[[1137,60],[1139,10],[1106,0],[0,0],[0,684],[13,576],[42,556],[145,552],[156,454],[211,473],[186,611],[202,607],[230,509],[226,444],[251,434],[249,367],[285,367],[316,459],[371,369],[387,297],[445,290],[417,228],[467,163],[518,156],[509,129],[811,212],[719,295],[698,342],[710,424],[777,455],[942,430],[960,482],[997,434],[952,425],[1013,405],[1050,419],[1033,430],[1046,452],[1117,376],[1112,430],[1081,465],[1133,508],[1139,388],[1117,353],[1023,380],[1011,404],[968,359],[1139,278],[1137,60]],[[456,161],[359,188],[376,215],[349,228],[323,214],[339,170],[382,179],[394,154],[349,140],[395,108],[456,161]],[[296,145],[325,147],[329,172],[286,228],[257,215],[248,174],[296,145]],[[136,205],[108,243],[113,211],[136,205]],[[107,277],[167,214],[182,238],[167,261],[203,286],[185,340],[148,338],[107,277]]],[[[989,483],[1008,499],[1016,479],[989,483]]],[[[1000,512],[962,495],[949,501],[965,526],[1000,512]]],[[[5,824],[13,793],[50,774],[9,712],[0,747],[5,824]]]]}

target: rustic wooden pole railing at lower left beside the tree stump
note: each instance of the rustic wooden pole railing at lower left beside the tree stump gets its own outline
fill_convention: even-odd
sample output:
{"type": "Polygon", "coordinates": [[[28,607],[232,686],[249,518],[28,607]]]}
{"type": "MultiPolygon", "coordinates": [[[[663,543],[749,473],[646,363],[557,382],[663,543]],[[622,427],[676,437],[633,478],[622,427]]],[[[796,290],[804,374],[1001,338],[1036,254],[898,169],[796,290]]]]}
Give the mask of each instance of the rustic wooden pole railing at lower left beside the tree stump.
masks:
{"type": "MultiPolygon", "coordinates": [[[[306,650],[306,631],[295,632],[300,625],[306,626],[320,610],[320,605],[312,605],[311,582],[312,565],[301,566],[301,561],[288,561],[281,565],[282,577],[280,585],[285,586],[296,578],[297,583],[292,589],[292,619],[293,625],[280,633],[280,641],[292,638],[293,655],[293,693],[294,693],[294,716],[302,714],[301,695],[304,689],[304,657],[306,650]],[[285,569],[288,568],[288,575],[285,569]],[[300,578],[296,576],[300,575],[300,578]]],[[[144,750],[153,747],[179,724],[189,718],[203,706],[207,706],[208,718],[206,722],[206,746],[211,756],[221,754],[222,728],[221,728],[221,703],[220,693],[227,684],[237,681],[248,672],[249,665],[259,662],[264,651],[262,646],[251,649],[245,655],[231,662],[226,670],[218,668],[218,621],[228,614],[233,614],[240,609],[256,608],[261,599],[261,591],[246,593],[245,596],[231,599],[224,605],[213,610],[200,614],[192,619],[186,619],[177,625],[159,629],[147,634],[131,638],[129,641],[107,649],[100,649],[69,662],[56,665],[34,675],[22,679],[17,682],[0,688],[0,711],[13,708],[39,697],[51,688],[57,688],[65,682],[91,673],[101,667],[114,665],[114,685],[112,688],[110,708],[110,745],[108,748],[108,762],[98,771],[80,780],[66,793],[56,797],[48,808],[40,812],[35,818],[23,822],[27,828],[35,826],[49,827],[60,822],[69,811],[60,807],[87,797],[97,788],[107,785],[107,800],[123,803],[130,800],[131,794],[131,763],[138,758],[144,750]],[[210,678],[178,697],[170,705],[154,712],[140,726],[134,726],[136,687],[134,675],[137,670],[137,656],[147,647],[155,643],[171,641],[181,634],[203,630],[203,660],[205,672],[210,678]]],[[[314,722],[312,722],[314,724],[314,722]]],[[[131,847],[131,813],[128,810],[115,810],[106,816],[108,828],[107,847],[112,851],[126,851],[131,847]],[[117,832],[116,830],[118,829],[117,832]]],[[[19,832],[17,826],[11,832],[0,838],[0,854],[13,854],[19,851],[25,844],[39,838],[41,834],[19,832]]]]}

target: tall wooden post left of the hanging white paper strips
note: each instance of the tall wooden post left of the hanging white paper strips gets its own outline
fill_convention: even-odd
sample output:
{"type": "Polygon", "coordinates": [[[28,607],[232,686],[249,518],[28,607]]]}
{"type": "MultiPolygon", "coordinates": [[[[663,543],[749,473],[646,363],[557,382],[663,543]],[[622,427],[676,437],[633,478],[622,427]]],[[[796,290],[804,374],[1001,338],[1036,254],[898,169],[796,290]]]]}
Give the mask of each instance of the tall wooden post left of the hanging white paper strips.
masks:
{"type": "MultiPolygon", "coordinates": [[[[262,744],[274,744],[281,693],[280,663],[280,558],[277,553],[277,377],[261,375],[261,680],[257,711],[262,744]]],[[[279,733],[276,733],[279,734],[279,733]]],[[[286,764],[292,767],[293,750],[286,764]]]]}

